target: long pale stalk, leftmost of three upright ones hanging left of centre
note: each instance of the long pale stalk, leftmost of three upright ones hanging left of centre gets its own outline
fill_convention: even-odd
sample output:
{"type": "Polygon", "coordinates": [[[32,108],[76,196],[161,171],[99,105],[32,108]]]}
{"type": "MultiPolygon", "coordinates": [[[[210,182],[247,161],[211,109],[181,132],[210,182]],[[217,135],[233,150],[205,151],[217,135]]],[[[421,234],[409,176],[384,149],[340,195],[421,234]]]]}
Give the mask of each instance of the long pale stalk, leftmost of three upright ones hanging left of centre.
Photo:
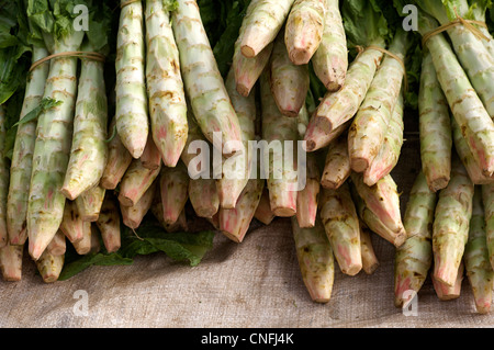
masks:
{"type": "Polygon", "coordinates": [[[149,133],[143,16],[142,1],[126,4],[120,12],[116,34],[116,131],[133,158],[143,154],[149,133]]]}

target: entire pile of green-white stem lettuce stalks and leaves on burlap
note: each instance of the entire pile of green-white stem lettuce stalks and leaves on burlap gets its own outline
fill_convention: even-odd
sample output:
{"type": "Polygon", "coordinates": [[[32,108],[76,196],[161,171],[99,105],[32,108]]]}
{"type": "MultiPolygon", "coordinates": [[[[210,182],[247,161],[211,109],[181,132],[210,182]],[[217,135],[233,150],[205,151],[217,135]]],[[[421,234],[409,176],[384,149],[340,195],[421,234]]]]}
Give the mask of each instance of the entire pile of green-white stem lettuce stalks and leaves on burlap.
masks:
{"type": "Polygon", "coordinates": [[[335,260],[375,271],[375,235],[396,248],[397,307],[429,273],[438,297],[458,297],[465,273],[487,313],[490,2],[413,1],[418,32],[403,29],[407,3],[388,2],[11,2],[3,278],[21,279],[24,246],[45,282],[154,251],[197,264],[214,232],[240,244],[255,219],[284,217],[315,302],[330,300],[335,260]],[[72,25],[78,4],[89,31],[72,25]],[[402,213],[392,173],[414,114],[423,169],[402,213]],[[197,218],[213,230],[189,232],[197,218]]]}

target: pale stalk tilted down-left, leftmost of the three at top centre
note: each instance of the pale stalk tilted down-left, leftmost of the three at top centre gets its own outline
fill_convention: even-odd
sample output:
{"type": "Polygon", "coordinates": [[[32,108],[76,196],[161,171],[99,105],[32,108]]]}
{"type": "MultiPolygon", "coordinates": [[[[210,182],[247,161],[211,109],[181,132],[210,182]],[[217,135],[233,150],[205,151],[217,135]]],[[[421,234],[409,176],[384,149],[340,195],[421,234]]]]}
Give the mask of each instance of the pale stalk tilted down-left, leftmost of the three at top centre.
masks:
{"type": "Polygon", "coordinates": [[[245,32],[240,52],[247,58],[256,57],[281,31],[294,0],[250,1],[244,18],[245,32]]]}

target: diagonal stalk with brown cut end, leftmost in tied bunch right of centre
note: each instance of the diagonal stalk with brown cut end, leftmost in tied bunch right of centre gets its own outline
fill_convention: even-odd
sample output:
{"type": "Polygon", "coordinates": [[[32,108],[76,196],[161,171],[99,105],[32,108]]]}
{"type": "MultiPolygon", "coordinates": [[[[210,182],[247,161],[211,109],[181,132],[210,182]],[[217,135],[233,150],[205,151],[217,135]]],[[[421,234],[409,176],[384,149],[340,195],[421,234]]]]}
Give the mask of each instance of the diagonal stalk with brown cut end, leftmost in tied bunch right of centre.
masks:
{"type": "MultiPolygon", "coordinates": [[[[375,45],[384,46],[380,42],[377,42],[375,45]]],[[[351,123],[369,91],[382,58],[383,53],[380,50],[366,49],[348,67],[343,88],[326,93],[314,112],[305,133],[304,140],[307,142],[307,151],[326,147],[336,129],[351,123]]]]}

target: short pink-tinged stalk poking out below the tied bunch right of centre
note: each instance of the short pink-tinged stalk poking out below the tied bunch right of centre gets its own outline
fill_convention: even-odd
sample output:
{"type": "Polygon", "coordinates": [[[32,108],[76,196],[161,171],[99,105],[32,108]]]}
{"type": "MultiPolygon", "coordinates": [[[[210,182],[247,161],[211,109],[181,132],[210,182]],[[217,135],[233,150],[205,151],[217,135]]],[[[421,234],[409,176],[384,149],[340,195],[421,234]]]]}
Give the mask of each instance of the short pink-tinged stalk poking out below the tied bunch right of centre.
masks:
{"type": "Polygon", "coordinates": [[[378,219],[378,227],[380,226],[379,224],[381,224],[384,226],[384,229],[379,229],[379,232],[377,232],[374,230],[374,225],[363,217],[362,219],[369,228],[392,242],[395,247],[400,247],[405,241],[406,232],[403,226],[400,211],[397,185],[393,178],[388,174],[374,185],[368,187],[363,182],[363,176],[361,173],[352,172],[350,177],[358,195],[362,199],[367,210],[370,212],[366,214],[366,217],[372,222],[378,219]],[[375,216],[375,218],[373,218],[373,216],[375,216]],[[389,233],[389,235],[386,235],[386,233],[389,233]]]}

